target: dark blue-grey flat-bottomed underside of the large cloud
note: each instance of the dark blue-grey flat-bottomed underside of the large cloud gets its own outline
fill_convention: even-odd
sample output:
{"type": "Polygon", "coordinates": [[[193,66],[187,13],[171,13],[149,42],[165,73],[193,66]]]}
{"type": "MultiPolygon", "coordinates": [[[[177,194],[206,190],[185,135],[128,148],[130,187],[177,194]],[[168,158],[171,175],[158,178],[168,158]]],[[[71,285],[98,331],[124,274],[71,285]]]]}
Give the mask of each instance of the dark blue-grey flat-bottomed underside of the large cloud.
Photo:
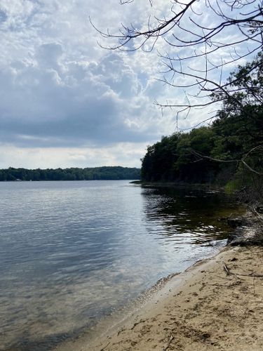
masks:
{"type": "MultiPolygon", "coordinates": [[[[62,119],[1,119],[1,140],[20,146],[104,146],[120,142],[142,142],[145,133],[129,128],[117,117],[112,100],[86,101],[83,110],[62,119]]],[[[154,135],[147,135],[153,138],[154,135]]]]}

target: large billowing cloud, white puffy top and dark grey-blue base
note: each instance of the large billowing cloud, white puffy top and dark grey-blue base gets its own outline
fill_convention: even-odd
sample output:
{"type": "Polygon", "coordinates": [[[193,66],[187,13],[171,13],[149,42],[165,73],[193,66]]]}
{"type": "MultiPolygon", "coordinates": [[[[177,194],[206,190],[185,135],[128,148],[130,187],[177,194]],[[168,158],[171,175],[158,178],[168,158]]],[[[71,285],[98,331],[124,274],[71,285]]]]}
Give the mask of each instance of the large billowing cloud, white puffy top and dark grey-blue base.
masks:
{"type": "Polygon", "coordinates": [[[133,102],[140,82],[121,57],[81,65],[60,62],[62,55],[60,44],[44,44],[34,65],[13,62],[0,72],[2,141],[50,147],[154,139],[143,126],[144,105],[133,102]]]}

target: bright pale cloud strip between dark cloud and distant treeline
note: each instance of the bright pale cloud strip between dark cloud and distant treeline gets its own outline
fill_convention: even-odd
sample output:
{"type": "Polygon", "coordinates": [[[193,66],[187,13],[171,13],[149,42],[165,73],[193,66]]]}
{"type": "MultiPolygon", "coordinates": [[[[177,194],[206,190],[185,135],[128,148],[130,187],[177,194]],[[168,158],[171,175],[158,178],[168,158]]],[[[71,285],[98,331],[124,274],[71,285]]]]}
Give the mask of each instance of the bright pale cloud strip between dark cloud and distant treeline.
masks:
{"type": "Polygon", "coordinates": [[[95,166],[140,167],[144,143],[119,143],[112,147],[15,147],[0,145],[0,168],[67,168],[95,166]]]}

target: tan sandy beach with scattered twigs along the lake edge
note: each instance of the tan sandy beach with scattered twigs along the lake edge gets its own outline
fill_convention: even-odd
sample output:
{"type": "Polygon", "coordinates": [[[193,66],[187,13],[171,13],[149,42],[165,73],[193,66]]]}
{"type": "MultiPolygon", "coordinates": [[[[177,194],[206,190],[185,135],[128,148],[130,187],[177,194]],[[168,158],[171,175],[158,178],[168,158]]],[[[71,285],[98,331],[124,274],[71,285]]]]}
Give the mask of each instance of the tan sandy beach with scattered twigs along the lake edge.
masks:
{"type": "Polygon", "coordinates": [[[227,247],[119,324],[56,350],[263,350],[263,248],[227,247]],[[228,270],[228,272],[227,272],[228,270]]]}

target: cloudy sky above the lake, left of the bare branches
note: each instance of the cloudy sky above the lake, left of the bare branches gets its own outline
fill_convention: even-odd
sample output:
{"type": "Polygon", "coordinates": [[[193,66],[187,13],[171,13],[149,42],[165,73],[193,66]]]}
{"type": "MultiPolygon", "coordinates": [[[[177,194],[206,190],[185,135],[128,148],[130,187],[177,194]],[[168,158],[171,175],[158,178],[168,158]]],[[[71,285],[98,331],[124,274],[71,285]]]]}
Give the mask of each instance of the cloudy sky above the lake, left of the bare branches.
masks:
{"type": "Polygon", "coordinates": [[[0,168],[140,167],[147,145],[176,131],[175,111],[154,105],[184,100],[158,80],[163,41],[151,53],[106,50],[89,20],[114,31],[151,11],[147,1],[1,0],[0,168]]]}

